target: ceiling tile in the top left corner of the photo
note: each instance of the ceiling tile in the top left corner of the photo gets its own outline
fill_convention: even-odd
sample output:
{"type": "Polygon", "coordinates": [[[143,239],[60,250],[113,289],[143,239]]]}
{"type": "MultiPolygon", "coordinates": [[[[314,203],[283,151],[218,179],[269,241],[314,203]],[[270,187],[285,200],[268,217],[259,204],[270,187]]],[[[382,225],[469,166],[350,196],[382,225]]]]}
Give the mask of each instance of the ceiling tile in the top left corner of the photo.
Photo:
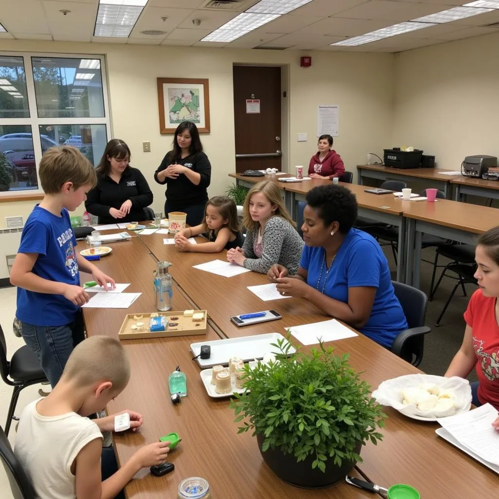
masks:
{"type": "Polygon", "coordinates": [[[10,32],[50,34],[39,0],[1,0],[1,23],[10,32]]]}

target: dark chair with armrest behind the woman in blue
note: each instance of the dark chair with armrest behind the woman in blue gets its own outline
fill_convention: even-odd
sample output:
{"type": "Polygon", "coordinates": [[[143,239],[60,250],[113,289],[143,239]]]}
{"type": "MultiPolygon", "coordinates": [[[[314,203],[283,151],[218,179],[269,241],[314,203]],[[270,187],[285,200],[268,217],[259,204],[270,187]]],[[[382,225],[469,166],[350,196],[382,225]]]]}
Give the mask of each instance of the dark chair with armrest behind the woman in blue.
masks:
{"type": "Polygon", "coordinates": [[[398,357],[417,367],[423,359],[424,335],[431,331],[425,326],[428,297],[420,289],[402,282],[392,281],[392,284],[409,329],[397,335],[391,350],[398,357]]]}

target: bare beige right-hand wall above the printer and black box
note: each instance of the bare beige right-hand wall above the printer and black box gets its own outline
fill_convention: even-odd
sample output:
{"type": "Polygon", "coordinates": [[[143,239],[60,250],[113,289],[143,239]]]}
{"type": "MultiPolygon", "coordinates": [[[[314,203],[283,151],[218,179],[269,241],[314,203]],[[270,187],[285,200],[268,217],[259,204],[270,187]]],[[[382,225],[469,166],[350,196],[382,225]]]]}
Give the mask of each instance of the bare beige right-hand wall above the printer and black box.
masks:
{"type": "Polygon", "coordinates": [[[391,145],[423,149],[449,170],[465,156],[499,156],[498,49],[491,34],[397,55],[391,145]]]}

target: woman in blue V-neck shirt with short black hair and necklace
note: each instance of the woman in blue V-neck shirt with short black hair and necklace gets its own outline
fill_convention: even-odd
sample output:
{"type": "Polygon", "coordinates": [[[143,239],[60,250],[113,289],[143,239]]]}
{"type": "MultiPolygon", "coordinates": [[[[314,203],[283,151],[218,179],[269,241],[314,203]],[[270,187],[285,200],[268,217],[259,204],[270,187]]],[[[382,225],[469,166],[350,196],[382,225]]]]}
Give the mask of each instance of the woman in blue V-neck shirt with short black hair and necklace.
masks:
{"type": "Polygon", "coordinates": [[[369,234],[353,228],[355,196],[344,187],[323,185],[306,195],[305,248],[296,275],[282,265],[268,271],[286,296],[305,298],[327,314],[390,348],[407,329],[395,296],[388,262],[369,234]]]}

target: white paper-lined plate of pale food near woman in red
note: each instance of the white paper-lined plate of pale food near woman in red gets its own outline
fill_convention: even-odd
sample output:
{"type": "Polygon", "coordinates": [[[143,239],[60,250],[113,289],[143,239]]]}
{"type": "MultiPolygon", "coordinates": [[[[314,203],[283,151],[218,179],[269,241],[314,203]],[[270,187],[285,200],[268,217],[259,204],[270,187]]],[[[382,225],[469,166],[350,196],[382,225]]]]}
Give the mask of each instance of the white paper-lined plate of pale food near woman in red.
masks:
{"type": "Polygon", "coordinates": [[[468,380],[431,374],[407,374],[383,381],[372,397],[420,421],[436,421],[467,412],[472,399],[468,380]]]}

